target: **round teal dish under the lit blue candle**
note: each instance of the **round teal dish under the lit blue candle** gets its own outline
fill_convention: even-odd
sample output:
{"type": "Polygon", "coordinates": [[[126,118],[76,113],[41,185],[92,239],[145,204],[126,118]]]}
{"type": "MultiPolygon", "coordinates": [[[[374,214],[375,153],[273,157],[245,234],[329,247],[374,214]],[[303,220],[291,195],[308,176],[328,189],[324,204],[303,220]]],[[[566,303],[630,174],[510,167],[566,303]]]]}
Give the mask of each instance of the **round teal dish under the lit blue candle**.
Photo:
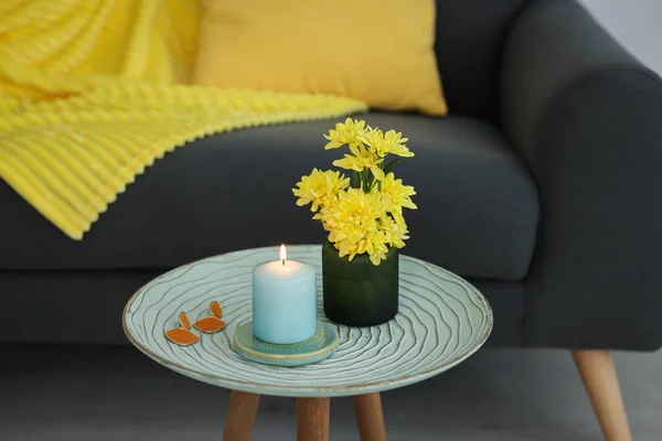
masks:
{"type": "Polygon", "coordinates": [[[253,334],[253,322],[237,327],[234,348],[237,354],[255,363],[273,366],[305,366],[329,358],[338,348],[339,333],[331,323],[317,322],[314,335],[303,342],[273,344],[253,334]]]}

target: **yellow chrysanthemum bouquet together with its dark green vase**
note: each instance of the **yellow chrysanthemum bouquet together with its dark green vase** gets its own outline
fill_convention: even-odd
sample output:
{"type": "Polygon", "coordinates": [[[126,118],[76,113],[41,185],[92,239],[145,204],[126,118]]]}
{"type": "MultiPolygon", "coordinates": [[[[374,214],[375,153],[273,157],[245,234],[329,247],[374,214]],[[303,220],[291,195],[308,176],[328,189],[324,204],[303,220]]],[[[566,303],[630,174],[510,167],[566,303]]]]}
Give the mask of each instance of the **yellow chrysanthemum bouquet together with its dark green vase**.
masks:
{"type": "Polygon", "coordinates": [[[297,205],[311,204],[312,218],[329,232],[322,247],[324,313],[346,325],[384,323],[398,308],[397,250],[409,238],[403,208],[416,208],[414,187],[393,169],[414,153],[402,133],[351,118],[324,138],[327,150],[349,148],[333,165],[351,171],[351,178],[313,169],[292,190],[297,205]]]}

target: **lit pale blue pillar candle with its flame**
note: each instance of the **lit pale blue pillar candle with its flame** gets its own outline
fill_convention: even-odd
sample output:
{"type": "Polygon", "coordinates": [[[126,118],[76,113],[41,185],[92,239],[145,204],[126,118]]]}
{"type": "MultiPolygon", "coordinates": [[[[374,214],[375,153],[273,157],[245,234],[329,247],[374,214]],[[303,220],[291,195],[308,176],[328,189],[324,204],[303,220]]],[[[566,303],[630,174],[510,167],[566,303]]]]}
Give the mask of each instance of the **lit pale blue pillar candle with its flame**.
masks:
{"type": "Polygon", "coordinates": [[[253,334],[263,342],[291,344],[312,337],[316,330],[314,268],[287,260],[282,245],[280,260],[253,270],[253,334]]]}

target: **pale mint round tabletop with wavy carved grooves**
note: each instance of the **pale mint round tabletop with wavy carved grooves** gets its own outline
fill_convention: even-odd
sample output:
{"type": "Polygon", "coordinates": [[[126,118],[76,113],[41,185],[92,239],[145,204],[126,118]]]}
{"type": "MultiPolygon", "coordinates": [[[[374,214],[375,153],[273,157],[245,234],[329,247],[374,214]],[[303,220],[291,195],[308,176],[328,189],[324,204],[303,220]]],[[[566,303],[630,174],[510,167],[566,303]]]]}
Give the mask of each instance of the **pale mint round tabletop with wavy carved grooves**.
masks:
{"type": "MultiPolygon", "coordinates": [[[[318,319],[325,320],[321,247],[289,246],[288,258],[316,268],[318,319]]],[[[250,271],[276,259],[278,247],[269,247],[177,268],[131,297],[122,316],[125,332],[149,357],[201,381],[254,394],[335,397],[393,389],[442,373],[478,351],[492,330],[492,310],[469,282],[401,256],[399,312],[394,320],[371,327],[338,325],[338,352],[313,365],[292,368],[250,363],[234,352],[233,336],[238,325],[252,319],[250,271]],[[185,347],[166,338],[164,332],[179,325],[180,311],[195,321],[209,315],[212,300],[223,306],[224,331],[202,334],[197,343],[185,347]]]]}

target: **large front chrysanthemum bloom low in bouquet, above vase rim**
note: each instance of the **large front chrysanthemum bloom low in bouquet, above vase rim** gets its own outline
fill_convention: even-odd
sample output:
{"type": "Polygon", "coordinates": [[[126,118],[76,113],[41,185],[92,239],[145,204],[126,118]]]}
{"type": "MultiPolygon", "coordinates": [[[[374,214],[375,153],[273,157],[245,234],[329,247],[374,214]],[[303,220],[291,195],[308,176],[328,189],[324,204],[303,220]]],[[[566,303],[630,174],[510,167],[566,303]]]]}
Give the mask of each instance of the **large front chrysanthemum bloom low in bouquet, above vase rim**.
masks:
{"type": "Polygon", "coordinates": [[[374,265],[388,251],[386,235],[380,229],[380,218],[387,216],[389,197],[380,193],[364,193],[348,189],[314,215],[329,232],[329,241],[340,257],[367,252],[374,265]]]}

